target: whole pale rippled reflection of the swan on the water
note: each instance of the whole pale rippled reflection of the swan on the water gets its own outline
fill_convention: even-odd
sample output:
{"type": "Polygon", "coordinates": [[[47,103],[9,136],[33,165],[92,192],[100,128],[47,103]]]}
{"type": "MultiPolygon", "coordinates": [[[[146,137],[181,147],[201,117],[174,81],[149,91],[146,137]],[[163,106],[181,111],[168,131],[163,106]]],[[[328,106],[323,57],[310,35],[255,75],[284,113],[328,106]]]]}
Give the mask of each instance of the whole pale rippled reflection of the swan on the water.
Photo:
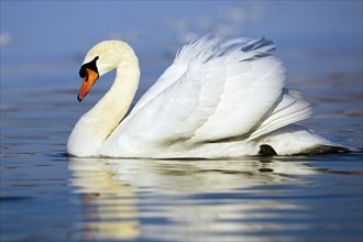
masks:
{"type": "MultiPolygon", "coordinates": [[[[286,199],[305,161],[69,158],[81,194],[85,239],[168,241],[289,240],[284,213],[306,208],[286,199]]],[[[290,216],[290,215],[289,215],[290,216]]]]}

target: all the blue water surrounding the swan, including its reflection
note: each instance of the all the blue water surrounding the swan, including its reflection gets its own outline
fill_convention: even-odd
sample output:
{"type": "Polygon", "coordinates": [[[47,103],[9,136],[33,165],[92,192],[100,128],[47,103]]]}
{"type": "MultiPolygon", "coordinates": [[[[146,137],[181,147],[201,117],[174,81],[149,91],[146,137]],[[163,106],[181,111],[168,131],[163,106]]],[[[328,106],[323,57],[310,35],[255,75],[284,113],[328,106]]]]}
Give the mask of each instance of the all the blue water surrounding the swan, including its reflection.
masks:
{"type": "Polygon", "coordinates": [[[265,35],[301,124],[363,147],[362,2],[1,1],[1,241],[362,241],[363,153],[223,161],[70,158],[79,66],[96,42],[134,46],[136,99],[186,40],[265,35]],[[25,24],[26,23],[26,24],[25,24]]]}

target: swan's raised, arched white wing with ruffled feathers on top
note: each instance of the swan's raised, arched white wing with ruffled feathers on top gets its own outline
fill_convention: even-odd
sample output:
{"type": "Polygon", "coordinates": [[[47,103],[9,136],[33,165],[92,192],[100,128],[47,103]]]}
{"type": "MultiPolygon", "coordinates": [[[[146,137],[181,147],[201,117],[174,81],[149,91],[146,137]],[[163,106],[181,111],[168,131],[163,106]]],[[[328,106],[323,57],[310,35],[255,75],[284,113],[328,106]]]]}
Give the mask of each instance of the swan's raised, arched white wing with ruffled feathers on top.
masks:
{"type": "Polygon", "coordinates": [[[130,148],[132,143],[193,144],[250,136],[261,124],[271,132],[278,121],[263,121],[276,107],[284,109],[278,102],[285,81],[285,68],[270,55],[272,50],[264,38],[208,36],[184,46],[107,143],[129,143],[130,148]]]}

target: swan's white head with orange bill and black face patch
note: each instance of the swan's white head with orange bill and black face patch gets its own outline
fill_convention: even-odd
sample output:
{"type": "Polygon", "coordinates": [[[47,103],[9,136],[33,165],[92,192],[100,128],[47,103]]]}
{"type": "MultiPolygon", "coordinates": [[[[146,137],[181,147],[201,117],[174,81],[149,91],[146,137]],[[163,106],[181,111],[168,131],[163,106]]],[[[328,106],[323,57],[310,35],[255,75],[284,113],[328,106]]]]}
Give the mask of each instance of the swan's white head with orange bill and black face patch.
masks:
{"type": "Polygon", "coordinates": [[[86,97],[99,77],[128,61],[130,51],[133,53],[122,41],[102,41],[89,50],[79,69],[79,76],[84,80],[78,92],[78,101],[86,97]]]}

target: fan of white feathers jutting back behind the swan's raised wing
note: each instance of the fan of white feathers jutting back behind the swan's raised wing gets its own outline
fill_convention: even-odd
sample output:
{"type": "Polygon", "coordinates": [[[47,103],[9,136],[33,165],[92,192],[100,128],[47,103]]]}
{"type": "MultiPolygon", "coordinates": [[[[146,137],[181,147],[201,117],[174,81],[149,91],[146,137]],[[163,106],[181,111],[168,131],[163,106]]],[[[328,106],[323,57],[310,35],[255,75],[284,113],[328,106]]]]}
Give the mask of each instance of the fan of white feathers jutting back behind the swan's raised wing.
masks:
{"type": "Polygon", "coordinates": [[[258,123],[248,140],[255,140],[274,130],[295,123],[311,116],[311,108],[298,92],[284,89],[280,101],[276,103],[267,118],[258,123]]]}

